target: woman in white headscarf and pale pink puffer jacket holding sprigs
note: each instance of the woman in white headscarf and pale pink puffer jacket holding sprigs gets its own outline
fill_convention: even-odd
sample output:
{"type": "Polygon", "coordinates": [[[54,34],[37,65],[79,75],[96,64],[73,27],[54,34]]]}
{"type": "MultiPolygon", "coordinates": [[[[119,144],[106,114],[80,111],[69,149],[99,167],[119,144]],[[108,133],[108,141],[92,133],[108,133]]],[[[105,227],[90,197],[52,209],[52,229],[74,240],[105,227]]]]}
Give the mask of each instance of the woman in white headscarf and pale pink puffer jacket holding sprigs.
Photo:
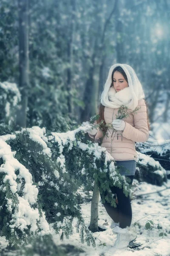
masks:
{"type": "MultiPolygon", "coordinates": [[[[108,137],[106,135],[103,137],[102,131],[99,129],[88,130],[89,136],[95,140],[103,137],[101,146],[107,149],[117,165],[125,167],[120,174],[128,175],[131,185],[136,171],[135,142],[146,142],[149,138],[150,125],[144,97],[142,85],[133,68],[127,64],[112,65],[101,95],[100,117],[97,123],[101,120],[104,120],[105,124],[112,123],[116,134],[112,130],[108,131],[108,137]],[[126,118],[116,119],[116,114],[122,105],[127,106],[128,113],[136,107],[138,110],[130,113],[126,118]]],[[[111,187],[111,191],[115,199],[116,197],[118,199],[117,207],[112,207],[107,202],[103,205],[114,221],[111,225],[113,233],[117,233],[114,247],[125,249],[129,242],[136,238],[135,227],[130,226],[132,220],[130,197],[129,195],[126,197],[123,189],[116,186],[111,187]]],[[[100,192],[100,196],[102,198],[105,195],[100,192]]]]}

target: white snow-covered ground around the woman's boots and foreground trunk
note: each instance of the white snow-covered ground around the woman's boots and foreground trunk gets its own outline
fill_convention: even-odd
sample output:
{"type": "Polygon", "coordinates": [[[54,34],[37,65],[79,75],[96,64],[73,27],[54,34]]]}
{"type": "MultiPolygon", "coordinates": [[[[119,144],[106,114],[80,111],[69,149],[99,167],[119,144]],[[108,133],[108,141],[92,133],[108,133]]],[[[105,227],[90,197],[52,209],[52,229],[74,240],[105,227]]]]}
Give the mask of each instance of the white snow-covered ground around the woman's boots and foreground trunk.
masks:
{"type": "MultiPolygon", "coordinates": [[[[79,256],[170,256],[170,180],[164,183],[163,186],[155,186],[147,184],[146,182],[139,183],[137,180],[133,180],[133,200],[132,211],[133,218],[132,223],[138,221],[139,225],[136,226],[138,237],[136,243],[141,243],[140,250],[134,250],[127,248],[127,250],[117,250],[116,253],[112,253],[112,246],[116,240],[116,234],[112,233],[110,228],[111,218],[107,214],[105,208],[102,206],[101,198],[99,197],[99,227],[105,229],[105,231],[96,232],[93,235],[96,239],[96,247],[89,247],[87,244],[82,244],[79,239],[79,233],[76,233],[74,227],[73,235],[69,239],[64,236],[63,241],[60,240],[61,233],[56,235],[51,228],[51,233],[54,236],[54,241],[59,244],[71,244],[81,248],[85,253],[80,253],[79,256]],[[166,189],[169,188],[169,189],[166,189]],[[165,189],[162,192],[160,190],[165,189]],[[152,193],[142,196],[141,199],[137,199],[137,195],[152,193]],[[151,230],[145,228],[146,221],[152,220],[154,226],[151,230]],[[158,229],[157,226],[162,227],[158,229]],[[159,233],[166,233],[167,236],[163,238],[159,236],[159,233]]],[[[82,189],[78,190],[81,193],[82,198],[87,197],[82,189]]],[[[93,192],[91,192],[92,195],[93,192]]],[[[85,224],[90,224],[90,212],[91,202],[81,204],[82,214],[85,219],[85,224]]],[[[77,219],[74,219],[73,225],[77,223],[77,219]]],[[[7,246],[7,242],[4,238],[0,238],[0,248],[7,246]]]]}

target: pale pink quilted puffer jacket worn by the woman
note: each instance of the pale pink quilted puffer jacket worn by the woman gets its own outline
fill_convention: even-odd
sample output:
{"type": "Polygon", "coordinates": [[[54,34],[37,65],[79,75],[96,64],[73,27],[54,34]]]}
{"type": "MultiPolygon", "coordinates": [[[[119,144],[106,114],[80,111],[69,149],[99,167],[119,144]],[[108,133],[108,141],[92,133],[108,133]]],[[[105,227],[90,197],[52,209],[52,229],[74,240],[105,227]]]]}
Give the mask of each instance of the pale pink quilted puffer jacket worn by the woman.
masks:
{"type": "MultiPolygon", "coordinates": [[[[116,131],[113,133],[113,128],[108,131],[108,138],[106,135],[103,137],[102,131],[98,131],[95,135],[89,134],[91,138],[102,138],[102,147],[111,154],[114,160],[137,160],[137,152],[135,142],[146,142],[149,138],[149,129],[147,125],[147,108],[144,99],[138,101],[139,110],[132,112],[127,109],[130,115],[123,118],[125,121],[124,131],[116,131]],[[114,136],[115,135],[115,136],[114,136]]],[[[116,119],[116,114],[119,108],[104,108],[104,119],[106,123],[112,123],[116,119]]]]}

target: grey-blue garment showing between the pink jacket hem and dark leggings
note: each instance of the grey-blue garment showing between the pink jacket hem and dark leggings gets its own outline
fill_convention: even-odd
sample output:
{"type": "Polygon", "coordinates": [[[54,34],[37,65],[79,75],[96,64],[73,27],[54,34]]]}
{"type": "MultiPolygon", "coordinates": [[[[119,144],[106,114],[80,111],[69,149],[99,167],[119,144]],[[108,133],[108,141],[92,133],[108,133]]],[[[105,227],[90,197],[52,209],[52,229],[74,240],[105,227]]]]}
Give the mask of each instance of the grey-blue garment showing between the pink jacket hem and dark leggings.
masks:
{"type": "Polygon", "coordinates": [[[115,161],[118,166],[125,167],[126,169],[120,169],[119,173],[121,175],[135,175],[136,171],[136,161],[135,160],[125,160],[125,161],[115,161]]]}

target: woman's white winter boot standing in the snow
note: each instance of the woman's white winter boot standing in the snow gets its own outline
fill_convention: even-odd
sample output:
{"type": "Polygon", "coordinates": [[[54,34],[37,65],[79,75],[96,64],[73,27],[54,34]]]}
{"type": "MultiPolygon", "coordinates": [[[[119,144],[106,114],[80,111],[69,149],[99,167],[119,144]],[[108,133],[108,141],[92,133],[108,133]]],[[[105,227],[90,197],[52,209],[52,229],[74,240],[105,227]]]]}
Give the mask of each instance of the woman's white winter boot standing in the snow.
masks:
{"type": "Polygon", "coordinates": [[[126,228],[115,226],[113,228],[113,232],[117,233],[117,239],[113,245],[115,249],[127,249],[129,243],[137,237],[135,226],[130,226],[126,228]]]}

